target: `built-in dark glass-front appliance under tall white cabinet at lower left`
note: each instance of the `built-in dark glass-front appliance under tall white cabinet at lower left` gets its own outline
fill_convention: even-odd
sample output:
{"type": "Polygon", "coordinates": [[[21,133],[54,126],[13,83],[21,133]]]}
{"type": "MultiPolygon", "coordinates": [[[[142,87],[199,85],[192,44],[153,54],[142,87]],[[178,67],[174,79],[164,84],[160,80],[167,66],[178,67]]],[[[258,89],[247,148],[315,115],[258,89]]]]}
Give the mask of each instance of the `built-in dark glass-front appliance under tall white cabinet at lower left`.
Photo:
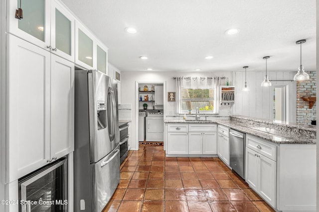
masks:
{"type": "Polygon", "coordinates": [[[67,212],[67,159],[18,179],[19,212],[67,212]]]}

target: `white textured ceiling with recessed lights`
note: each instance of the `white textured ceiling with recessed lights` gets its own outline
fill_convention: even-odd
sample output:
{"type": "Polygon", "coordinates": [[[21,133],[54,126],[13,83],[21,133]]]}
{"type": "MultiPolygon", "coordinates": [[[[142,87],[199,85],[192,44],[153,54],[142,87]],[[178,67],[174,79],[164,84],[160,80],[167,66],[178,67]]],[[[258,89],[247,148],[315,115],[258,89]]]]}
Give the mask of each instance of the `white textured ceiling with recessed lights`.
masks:
{"type": "Polygon", "coordinates": [[[62,0],[121,71],[316,70],[316,0],[62,0]],[[136,34],[124,29],[135,27],[136,34]],[[236,35],[226,35],[239,28],[236,35]],[[205,60],[207,55],[214,56],[205,60]],[[140,56],[149,57],[141,60],[140,56]]]}

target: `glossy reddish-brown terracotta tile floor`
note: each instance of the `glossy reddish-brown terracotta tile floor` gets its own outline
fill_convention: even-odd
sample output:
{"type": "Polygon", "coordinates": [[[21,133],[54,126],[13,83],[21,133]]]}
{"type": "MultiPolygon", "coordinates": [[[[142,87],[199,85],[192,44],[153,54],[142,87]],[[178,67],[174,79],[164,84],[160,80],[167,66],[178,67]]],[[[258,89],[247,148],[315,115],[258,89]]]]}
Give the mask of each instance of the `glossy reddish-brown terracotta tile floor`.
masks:
{"type": "Polygon", "coordinates": [[[219,158],[165,157],[140,146],[121,165],[121,180],[103,212],[273,212],[219,158]]]}

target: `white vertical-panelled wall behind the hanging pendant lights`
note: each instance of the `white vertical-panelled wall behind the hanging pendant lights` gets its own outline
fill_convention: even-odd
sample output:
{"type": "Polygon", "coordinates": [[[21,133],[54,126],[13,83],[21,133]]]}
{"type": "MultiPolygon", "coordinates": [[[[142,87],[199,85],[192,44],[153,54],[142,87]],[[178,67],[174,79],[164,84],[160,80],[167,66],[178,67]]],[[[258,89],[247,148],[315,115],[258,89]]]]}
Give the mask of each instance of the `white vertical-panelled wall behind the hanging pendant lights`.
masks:
{"type": "MultiPolygon", "coordinates": [[[[291,80],[297,71],[267,71],[270,80],[291,80]]],[[[236,85],[236,103],[234,115],[273,119],[273,89],[261,87],[265,71],[247,71],[247,85],[250,91],[242,91],[245,83],[245,71],[234,71],[236,85]]],[[[289,86],[289,122],[296,123],[297,83],[296,81],[272,81],[272,84],[289,86]]]]}

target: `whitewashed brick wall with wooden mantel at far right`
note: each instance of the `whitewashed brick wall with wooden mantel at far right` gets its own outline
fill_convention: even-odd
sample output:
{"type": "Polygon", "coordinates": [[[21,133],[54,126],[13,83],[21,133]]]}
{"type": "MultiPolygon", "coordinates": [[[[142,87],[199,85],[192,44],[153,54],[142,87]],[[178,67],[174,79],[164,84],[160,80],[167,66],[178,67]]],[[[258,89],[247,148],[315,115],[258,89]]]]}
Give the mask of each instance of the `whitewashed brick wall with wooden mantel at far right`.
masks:
{"type": "Polygon", "coordinates": [[[316,104],[312,109],[309,108],[309,102],[302,97],[316,97],[316,71],[307,71],[310,79],[307,81],[297,81],[297,123],[311,125],[312,120],[316,120],[316,104]]]}

